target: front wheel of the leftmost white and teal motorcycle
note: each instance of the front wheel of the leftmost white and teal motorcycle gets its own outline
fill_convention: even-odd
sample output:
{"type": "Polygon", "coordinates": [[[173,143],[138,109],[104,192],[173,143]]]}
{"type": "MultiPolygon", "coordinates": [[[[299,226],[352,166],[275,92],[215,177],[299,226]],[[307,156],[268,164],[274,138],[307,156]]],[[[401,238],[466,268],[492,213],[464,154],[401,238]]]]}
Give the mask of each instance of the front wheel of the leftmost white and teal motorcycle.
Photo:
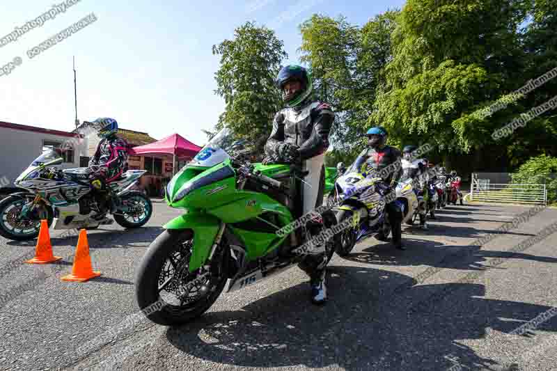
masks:
{"type": "Polygon", "coordinates": [[[21,217],[24,205],[33,202],[35,196],[8,196],[0,201],[0,235],[13,241],[29,241],[39,235],[40,221],[52,225],[54,212],[44,203],[25,218],[21,217]]]}

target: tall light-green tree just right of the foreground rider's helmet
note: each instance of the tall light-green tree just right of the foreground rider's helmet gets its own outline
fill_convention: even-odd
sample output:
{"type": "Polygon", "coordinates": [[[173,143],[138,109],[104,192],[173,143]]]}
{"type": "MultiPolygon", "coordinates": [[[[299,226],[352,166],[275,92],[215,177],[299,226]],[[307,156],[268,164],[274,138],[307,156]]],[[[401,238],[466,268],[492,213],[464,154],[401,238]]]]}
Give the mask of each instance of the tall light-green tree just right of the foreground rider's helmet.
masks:
{"type": "Polygon", "coordinates": [[[360,137],[368,129],[381,69],[391,55],[397,14],[398,10],[389,10],[362,28],[343,16],[325,15],[313,15],[300,26],[300,59],[310,66],[320,97],[337,113],[331,142],[340,156],[350,157],[354,144],[363,144],[360,137]]]}

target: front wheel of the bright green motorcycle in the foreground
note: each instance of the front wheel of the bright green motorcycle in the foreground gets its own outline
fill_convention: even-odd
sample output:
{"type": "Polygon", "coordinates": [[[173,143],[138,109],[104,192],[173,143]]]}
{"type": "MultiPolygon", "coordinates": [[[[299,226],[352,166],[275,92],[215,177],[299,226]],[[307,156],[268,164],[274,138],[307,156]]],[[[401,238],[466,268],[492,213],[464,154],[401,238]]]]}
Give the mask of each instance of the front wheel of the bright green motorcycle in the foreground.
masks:
{"type": "Polygon", "coordinates": [[[136,272],[135,296],[150,321],[163,326],[191,322],[208,310],[228,281],[230,248],[217,247],[209,270],[189,271],[191,230],[165,230],[151,243],[136,272]]]}

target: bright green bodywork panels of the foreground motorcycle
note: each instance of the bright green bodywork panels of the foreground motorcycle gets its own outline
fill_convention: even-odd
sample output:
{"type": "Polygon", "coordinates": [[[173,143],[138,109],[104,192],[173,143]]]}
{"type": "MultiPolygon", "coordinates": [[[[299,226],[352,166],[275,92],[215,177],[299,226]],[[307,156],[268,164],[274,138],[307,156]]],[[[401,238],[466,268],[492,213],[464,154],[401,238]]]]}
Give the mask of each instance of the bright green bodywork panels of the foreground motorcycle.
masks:
{"type": "MultiPolygon", "coordinates": [[[[287,165],[253,165],[268,177],[290,173],[287,165]]],[[[281,237],[276,230],[293,221],[288,207],[267,194],[236,189],[236,173],[229,159],[212,167],[186,166],[168,183],[165,200],[170,207],[184,208],[186,213],[169,221],[163,228],[193,231],[194,248],[189,271],[198,269],[207,260],[221,223],[228,224],[244,243],[246,258],[254,260],[280,246],[287,235],[281,237]],[[260,216],[265,213],[274,214],[278,223],[262,219],[260,216]],[[267,223],[274,232],[249,230],[249,226],[242,224],[249,221],[267,223]]]]}

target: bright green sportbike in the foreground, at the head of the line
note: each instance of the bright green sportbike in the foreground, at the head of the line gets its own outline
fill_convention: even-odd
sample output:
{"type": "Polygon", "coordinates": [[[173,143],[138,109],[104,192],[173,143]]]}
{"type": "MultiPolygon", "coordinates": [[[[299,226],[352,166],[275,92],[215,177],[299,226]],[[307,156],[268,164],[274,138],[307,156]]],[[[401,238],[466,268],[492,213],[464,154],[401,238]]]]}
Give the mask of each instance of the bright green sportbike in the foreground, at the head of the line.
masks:
{"type": "MultiPolygon", "coordinates": [[[[306,173],[299,166],[251,164],[243,143],[222,129],[168,183],[166,203],[185,212],[164,225],[135,278],[136,301],[152,322],[189,322],[212,306],[228,280],[227,292],[252,287],[313,252],[304,243],[317,233],[306,230],[306,216],[299,219],[306,173]]],[[[334,212],[319,215],[322,232],[336,224],[334,212]]],[[[336,238],[323,233],[318,239],[327,263],[336,238]]]]}

